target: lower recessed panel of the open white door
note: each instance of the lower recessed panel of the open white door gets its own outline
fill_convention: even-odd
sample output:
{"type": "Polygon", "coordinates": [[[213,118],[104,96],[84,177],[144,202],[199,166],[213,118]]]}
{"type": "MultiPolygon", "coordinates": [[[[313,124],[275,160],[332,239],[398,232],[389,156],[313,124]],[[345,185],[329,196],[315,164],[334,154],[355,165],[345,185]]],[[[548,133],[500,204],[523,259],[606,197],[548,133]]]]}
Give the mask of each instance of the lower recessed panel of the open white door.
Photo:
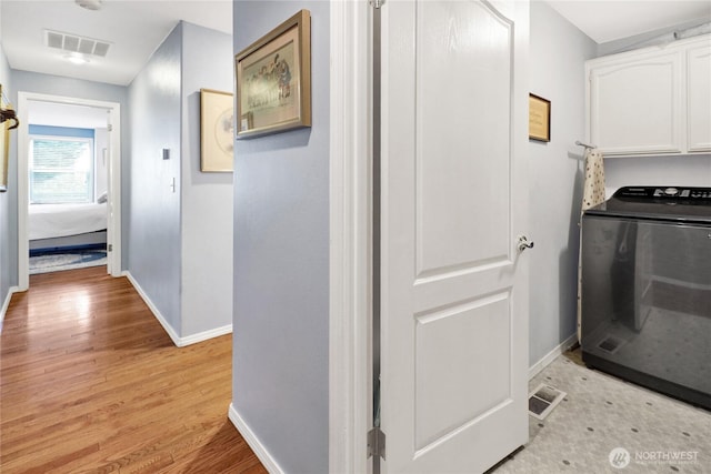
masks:
{"type": "Polygon", "coordinates": [[[507,376],[511,321],[499,316],[510,314],[508,303],[509,295],[500,293],[417,317],[417,453],[455,435],[511,397],[507,376]],[[482,324],[490,332],[479,332],[482,324]],[[481,364],[485,360],[491,363],[481,364]]]}

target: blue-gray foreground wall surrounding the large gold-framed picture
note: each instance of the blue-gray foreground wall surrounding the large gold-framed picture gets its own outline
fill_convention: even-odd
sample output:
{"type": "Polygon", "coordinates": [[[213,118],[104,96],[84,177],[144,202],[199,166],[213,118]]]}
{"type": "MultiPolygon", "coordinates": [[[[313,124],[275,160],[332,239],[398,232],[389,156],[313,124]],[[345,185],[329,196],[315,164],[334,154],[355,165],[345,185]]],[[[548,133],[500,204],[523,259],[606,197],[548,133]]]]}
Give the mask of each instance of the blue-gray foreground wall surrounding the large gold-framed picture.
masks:
{"type": "Polygon", "coordinates": [[[237,141],[232,403],[286,472],[326,473],[330,7],[233,6],[234,52],[311,11],[313,127],[237,141]]]}

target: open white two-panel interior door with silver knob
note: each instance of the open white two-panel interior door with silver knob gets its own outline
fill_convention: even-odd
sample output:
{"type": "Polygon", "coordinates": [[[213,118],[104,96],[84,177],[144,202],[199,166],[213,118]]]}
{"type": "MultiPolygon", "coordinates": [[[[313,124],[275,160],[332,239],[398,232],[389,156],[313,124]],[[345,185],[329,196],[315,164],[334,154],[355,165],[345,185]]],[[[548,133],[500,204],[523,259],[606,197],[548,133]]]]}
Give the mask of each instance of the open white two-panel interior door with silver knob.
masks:
{"type": "Polygon", "coordinates": [[[483,472],[528,440],[528,9],[381,10],[388,473],[483,472]]]}

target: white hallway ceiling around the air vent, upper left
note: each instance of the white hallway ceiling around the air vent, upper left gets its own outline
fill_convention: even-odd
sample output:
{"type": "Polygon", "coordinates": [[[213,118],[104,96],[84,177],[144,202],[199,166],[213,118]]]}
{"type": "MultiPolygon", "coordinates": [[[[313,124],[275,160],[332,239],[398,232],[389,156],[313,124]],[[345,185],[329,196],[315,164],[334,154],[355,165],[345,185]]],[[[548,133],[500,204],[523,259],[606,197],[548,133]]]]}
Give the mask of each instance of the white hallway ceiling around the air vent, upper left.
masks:
{"type": "Polygon", "coordinates": [[[128,85],[180,20],[232,33],[231,0],[0,0],[0,40],[12,69],[128,85]],[[73,64],[44,46],[44,29],[111,43],[106,58],[73,64]]]}

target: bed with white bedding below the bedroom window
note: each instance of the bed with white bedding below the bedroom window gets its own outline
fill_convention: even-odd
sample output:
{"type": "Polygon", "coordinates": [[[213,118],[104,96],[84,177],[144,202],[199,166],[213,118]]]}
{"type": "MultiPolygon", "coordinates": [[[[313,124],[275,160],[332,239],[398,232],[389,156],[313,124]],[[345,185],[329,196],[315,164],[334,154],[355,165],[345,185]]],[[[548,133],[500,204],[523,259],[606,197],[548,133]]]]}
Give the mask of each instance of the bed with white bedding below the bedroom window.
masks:
{"type": "Polygon", "coordinates": [[[106,245],[106,202],[29,206],[30,251],[106,245]]]}

